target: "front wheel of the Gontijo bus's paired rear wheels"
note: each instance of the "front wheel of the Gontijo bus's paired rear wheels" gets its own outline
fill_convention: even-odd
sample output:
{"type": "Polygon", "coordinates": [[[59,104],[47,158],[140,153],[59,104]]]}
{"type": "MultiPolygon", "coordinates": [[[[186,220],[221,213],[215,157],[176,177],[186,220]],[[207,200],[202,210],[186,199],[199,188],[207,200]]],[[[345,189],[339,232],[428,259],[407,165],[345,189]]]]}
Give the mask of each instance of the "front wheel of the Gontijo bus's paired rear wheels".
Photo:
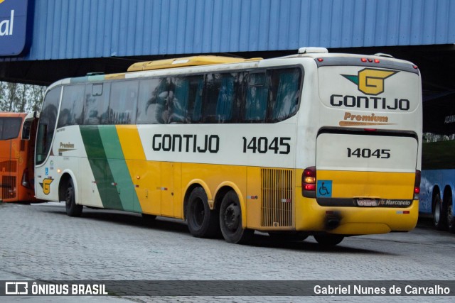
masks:
{"type": "Polygon", "coordinates": [[[196,187],[188,198],[188,229],[197,238],[212,238],[220,230],[218,214],[210,210],[208,198],[202,187],[196,187]]]}

